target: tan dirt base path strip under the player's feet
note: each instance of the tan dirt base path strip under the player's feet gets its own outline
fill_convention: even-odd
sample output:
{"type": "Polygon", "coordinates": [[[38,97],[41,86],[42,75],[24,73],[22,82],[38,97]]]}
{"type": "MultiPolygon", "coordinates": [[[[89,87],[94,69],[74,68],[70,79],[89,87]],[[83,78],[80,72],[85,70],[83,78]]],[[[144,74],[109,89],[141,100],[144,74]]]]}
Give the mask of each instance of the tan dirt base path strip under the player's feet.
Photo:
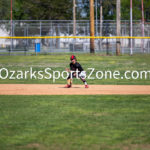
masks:
{"type": "Polygon", "coordinates": [[[150,95],[150,85],[73,85],[66,89],[59,84],[0,84],[0,95],[150,95]]]}

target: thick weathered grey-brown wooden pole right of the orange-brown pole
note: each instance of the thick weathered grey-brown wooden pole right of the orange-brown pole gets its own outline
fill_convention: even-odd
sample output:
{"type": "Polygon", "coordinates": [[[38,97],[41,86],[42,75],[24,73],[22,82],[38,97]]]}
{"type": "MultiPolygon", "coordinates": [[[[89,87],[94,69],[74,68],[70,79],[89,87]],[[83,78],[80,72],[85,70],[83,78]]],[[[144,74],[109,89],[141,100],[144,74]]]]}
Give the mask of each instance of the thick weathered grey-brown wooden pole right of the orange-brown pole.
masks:
{"type": "MultiPolygon", "coordinates": [[[[117,0],[117,5],[116,5],[116,9],[117,9],[117,36],[120,37],[121,36],[121,12],[120,12],[120,0],[117,0]]],[[[120,38],[117,39],[117,43],[116,43],[116,55],[119,56],[120,55],[120,49],[121,49],[121,43],[120,43],[120,38]]]]}

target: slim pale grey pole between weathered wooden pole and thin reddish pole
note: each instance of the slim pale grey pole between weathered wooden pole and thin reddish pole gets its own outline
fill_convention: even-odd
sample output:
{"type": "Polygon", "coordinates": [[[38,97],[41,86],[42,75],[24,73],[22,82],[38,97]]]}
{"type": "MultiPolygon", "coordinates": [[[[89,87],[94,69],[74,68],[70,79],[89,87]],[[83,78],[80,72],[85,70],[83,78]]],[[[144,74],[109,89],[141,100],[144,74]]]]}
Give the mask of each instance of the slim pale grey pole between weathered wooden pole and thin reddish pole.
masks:
{"type": "MultiPolygon", "coordinates": [[[[130,0],[130,37],[133,36],[133,14],[132,14],[132,0],[130,0]]],[[[133,41],[130,39],[130,55],[133,55],[133,41]]]]}

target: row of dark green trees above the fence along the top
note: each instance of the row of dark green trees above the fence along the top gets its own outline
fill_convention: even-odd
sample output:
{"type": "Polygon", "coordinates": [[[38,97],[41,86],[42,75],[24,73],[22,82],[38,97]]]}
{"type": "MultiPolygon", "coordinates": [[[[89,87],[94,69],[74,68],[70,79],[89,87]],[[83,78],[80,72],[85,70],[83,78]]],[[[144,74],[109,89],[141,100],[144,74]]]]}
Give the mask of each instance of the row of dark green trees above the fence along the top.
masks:
{"type": "MultiPolygon", "coordinates": [[[[9,20],[11,0],[0,0],[0,20],[9,20]]],[[[100,1],[95,0],[98,18],[100,1]]],[[[116,19],[116,0],[102,0],[103,19],[116,19]]],[[[14,20],[72,20],[72,0],[13,0],[14,20]]],[[[144,0],[145,20],[150,20],[150,0],[144,0]]],[[[89,19],[89,0],[76,0],[77,20],[89,19]]],[[[130,19],[130,0],[121,0],[121,19],[130,19]]],[[[133,19],[141,20],[141,0],[133,0],[133,19]]]]}

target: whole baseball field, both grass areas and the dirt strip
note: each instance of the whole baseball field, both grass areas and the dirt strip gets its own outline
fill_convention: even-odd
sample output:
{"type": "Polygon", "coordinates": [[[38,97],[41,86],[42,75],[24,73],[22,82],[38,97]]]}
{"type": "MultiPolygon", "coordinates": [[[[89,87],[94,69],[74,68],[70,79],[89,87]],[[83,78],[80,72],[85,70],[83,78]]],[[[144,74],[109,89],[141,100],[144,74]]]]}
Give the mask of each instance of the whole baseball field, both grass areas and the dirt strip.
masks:
{"type": "MultiPolygon", "coordinates": [[[[150,55],[76,56],[85,70],[118,70],[121,76],[150,68],[150,55]]],[[[15,78],[31,67],[64,71],[69,57],[0,56],[1,77],[14,71],[13,79],[0,79],[0,150],[149,150],[149,77],[90,79],[89,89],[78,79],[65,89],[62,78],[15,78]]]]}

